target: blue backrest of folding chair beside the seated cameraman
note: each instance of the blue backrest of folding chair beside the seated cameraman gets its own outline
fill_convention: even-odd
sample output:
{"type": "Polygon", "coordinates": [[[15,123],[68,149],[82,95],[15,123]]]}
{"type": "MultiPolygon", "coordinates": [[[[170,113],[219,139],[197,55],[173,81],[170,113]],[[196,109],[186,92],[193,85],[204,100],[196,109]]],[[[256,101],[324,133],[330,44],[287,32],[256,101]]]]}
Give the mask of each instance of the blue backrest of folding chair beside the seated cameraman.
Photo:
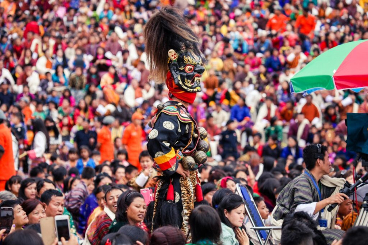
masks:
{"type": "MultiPolygon", "coordinates": [[[[265,224],[263,223],[262,217],[258,212],[257,205],[255,204],[251,192],[244,185],[236,184],[237,194],[243,197],[245,210],[247,211],[247,215],[252,223],[253,227],[263,227],[265,224]]],[[[258,239],[266,240],[269,231],[266,230],[257,230],[256,234],[258,239]]]]}

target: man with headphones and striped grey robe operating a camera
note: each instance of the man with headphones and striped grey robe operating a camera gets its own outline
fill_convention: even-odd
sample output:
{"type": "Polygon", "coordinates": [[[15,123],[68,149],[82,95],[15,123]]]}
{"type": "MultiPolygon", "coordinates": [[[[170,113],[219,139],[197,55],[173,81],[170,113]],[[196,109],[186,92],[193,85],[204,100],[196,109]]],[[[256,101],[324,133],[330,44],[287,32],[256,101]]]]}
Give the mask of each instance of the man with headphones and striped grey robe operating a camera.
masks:
{"type": "MultiPolygon", "coordinates": [[[[337,209],[330,213],[326,210],[329,204],[342,203],[348,196],[338,193],[344,186],[344,179],[330,178],[331,163],[328,159],[327,147],[320,144],[308,145],[303,150],[306,169],[304,174],[296,177],[280,192],[273,212],[273,225],[280,225],[284,217],[293,212],[304,211],[319,221],[323,235],[329,244],[339,240],[344,231],[330,229],[335,225],[337,209]],[[333,194],[336,193],[336,194],[333,194]],[[323,212],[324,211],[324,212],[323,212]]],[[[273,232],[273,238],[279,234],[273,232]],[[275,234],[276,233],[276,234],[275,234]]]]}

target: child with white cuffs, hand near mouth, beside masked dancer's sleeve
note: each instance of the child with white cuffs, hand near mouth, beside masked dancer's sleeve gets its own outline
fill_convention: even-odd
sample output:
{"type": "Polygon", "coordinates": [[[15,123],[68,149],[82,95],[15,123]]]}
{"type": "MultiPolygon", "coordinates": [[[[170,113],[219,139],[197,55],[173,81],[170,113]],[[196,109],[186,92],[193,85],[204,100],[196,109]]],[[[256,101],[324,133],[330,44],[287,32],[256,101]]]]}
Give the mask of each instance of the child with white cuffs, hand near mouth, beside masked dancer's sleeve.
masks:
{"type": "Polygon", "coordinates": [[[129,181],[128,185],[137,191],[141,190],[141,188],[155,187],[156,180],[154,180],[153,177],[158,174],[153,168],[153,160],[148,151],[142,151],[141,154],[139,154],[139,164],[142,170],[129,181]]]}

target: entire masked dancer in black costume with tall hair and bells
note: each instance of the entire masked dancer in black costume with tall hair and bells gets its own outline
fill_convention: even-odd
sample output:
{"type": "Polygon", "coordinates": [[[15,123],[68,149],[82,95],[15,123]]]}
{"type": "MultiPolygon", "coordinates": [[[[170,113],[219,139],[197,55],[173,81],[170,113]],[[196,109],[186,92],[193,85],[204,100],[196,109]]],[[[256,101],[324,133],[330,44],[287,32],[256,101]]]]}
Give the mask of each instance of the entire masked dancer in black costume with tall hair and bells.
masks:
{"type": "Polygon", "coordinates": [[[194,202],[203,200],[198,166],[206,162],[207,132],[198,128],[188,112],[201,91],[204,58],[198,37],[172,7],[164,7],[149,19],[144,30],[151,78],[166,83],[170,101],[159,105],[151,120],[148,151],[161,170],[156,185],[152,230],[180,227],[189,233],[194,202]]]}

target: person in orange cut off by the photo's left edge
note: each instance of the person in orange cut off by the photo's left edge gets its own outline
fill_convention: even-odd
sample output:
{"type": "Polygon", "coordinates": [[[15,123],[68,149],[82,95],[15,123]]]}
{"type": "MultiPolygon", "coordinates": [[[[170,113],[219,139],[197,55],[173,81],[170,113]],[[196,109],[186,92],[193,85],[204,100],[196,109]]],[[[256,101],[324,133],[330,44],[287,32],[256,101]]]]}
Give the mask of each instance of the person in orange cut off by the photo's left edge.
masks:
{"type": "Polygon", "coordinates": [[[15,175],[13,141],[11,140],[11,131],[5,122],[6,116],[0,110],[0,145],[4,148],[3,155],[0,154],[0,191],[5,190],[6,181],[15,175]]]}

